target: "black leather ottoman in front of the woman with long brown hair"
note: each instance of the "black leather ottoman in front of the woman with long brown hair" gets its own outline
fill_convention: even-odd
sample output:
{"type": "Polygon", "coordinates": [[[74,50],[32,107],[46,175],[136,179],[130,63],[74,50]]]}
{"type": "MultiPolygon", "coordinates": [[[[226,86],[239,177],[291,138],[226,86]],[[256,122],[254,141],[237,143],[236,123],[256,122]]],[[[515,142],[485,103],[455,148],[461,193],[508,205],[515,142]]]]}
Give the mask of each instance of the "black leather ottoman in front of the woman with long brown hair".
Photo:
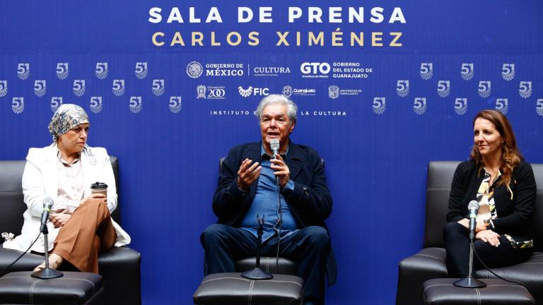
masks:
{"type": "Polygon", "coordinates": [[[498,279],[482,279],[483,288],[452,285],[458,279],[439,278],[424,282],[424,304],[528,305],[535,300],[525,287],[498,279]]]}

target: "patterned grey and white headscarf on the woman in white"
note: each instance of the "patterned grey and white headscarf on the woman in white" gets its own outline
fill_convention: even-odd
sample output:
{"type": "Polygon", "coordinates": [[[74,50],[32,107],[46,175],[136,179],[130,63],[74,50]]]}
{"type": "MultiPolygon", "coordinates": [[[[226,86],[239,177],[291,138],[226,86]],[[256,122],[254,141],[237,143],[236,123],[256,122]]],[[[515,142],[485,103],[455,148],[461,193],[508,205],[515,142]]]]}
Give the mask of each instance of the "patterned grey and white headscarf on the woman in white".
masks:
{"type": "Polygon", "coordinates": [[[59,136],[85,123],[88,123],[88,115],[83,108],[76,104],[62,104],[53,114],[49,133],[53,136],[53,142],[57,142],[59,136]]]}

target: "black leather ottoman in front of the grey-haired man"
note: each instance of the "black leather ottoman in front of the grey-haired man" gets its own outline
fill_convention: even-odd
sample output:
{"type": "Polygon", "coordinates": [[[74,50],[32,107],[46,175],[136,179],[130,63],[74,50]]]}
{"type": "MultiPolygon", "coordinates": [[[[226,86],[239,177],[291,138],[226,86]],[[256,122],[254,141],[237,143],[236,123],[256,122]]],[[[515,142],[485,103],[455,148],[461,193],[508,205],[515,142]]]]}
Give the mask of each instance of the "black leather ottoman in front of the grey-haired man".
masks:
{"type": "Polygon", "coordinates": [[[302,287],[303,280],[294,275],[249,280],[240,273],[215,273],[204,277],[193,299],[199,305],[298,305],[302,287]]]}

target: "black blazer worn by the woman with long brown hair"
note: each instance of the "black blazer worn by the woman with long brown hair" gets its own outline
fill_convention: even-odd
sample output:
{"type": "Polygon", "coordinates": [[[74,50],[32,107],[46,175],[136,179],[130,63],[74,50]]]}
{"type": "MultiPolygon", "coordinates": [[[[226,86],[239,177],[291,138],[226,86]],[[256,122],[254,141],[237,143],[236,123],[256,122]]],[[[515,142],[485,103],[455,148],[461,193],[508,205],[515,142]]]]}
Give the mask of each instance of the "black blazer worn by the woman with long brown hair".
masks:
{"type": "MultiPolygon", "coordinates": [[[[450,187],[448,222],[457,222],[469,217],[467,205],[469,201],[476,200],[477,191],[483,179],[484,170],[479,173],[479,165],[475,160],[465,161],[458,165],[450,187]]],[[[530,164],[521,161],[520,165],[513,169],[509,186],[513,191],[513,199],[503,184],[494,190],[498,218],[492,221],[495,226],[493,231],[498,234],[508,234],[517,241],[533,239],[531,217],[537,190],[530,164]]]]}

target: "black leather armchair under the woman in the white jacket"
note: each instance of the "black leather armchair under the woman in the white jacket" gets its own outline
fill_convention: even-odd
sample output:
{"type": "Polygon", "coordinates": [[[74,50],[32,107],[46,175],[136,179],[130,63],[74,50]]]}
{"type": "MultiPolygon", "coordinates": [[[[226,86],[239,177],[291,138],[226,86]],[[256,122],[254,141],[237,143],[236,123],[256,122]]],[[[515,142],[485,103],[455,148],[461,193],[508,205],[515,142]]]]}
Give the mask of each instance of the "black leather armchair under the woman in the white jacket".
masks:
{"type": "MultiPolygon", "coordinates": [[[[111,157],[111,164],[119,195],[119,162],[111,157]]],[[[23,213],[26,205],[23,202],[21,179],[25,168],[24,160],[0,161],[0,232],[21,234],[23,213]]],[[[120,201],[112,218],[120,222],[120,201]]],[[[3,239],[0,239],[4,242],[3,239]]],[[[21,251],[0,248],[0,270],[21,255],[21,251]]],[[[33,270],[42,263],[43,256],[27,253],[13,265],[8,272],[33,270]]],[[[100,275],[104,277],[106,304],[141,304],[140,289],[140,253],[126,246],[111,249],[98,258],[100,275]]]]}

